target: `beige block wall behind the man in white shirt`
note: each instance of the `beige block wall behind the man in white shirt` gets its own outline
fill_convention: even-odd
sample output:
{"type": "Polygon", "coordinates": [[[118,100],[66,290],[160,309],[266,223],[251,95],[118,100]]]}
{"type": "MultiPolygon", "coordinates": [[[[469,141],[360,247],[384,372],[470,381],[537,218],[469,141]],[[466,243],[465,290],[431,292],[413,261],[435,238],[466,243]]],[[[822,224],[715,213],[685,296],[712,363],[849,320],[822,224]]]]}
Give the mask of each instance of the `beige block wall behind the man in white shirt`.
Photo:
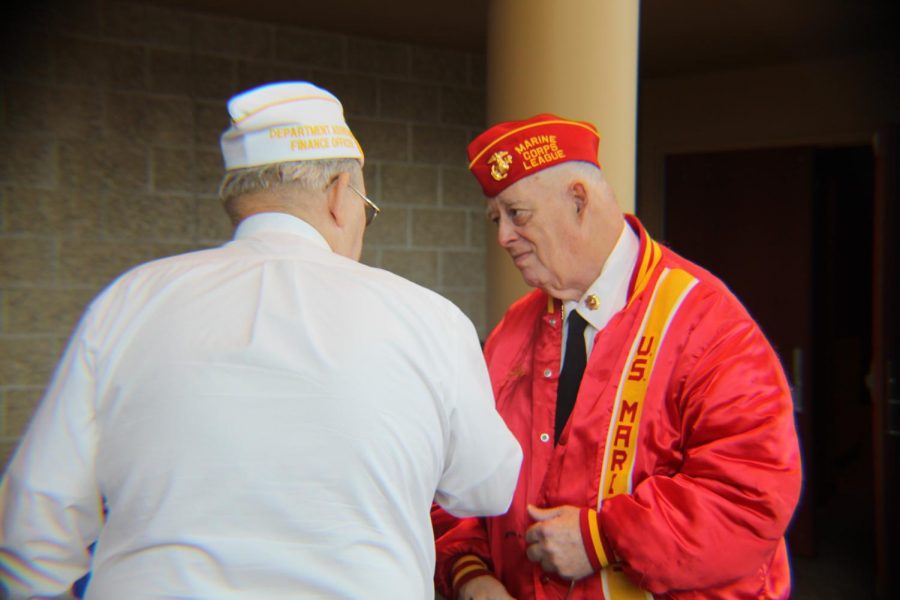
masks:
{"type": "Polygon", "coordinates": [[[0,461],[86,303],[123,270],[216,245],[225,101],[308,79],[344,103],[383,210],[363,261],[485,335],[484,210],[465,146],[483,56],[113,0],[24,3],[0,48],[0,461]]]}

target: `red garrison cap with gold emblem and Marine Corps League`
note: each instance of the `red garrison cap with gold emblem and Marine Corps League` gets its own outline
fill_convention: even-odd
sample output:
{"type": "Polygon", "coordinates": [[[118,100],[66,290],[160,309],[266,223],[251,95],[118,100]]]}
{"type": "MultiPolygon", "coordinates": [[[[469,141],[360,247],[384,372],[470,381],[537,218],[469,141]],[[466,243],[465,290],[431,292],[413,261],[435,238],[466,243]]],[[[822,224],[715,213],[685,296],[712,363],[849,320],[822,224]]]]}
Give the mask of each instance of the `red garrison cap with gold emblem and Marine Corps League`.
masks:
{"type": "Polygon", "coordinates": [[[523,177],[569,160],[600,166],[600,134],[584,121],[543,114],[494,125],[469,144],[469,169],[493,198],[523,177]]]}

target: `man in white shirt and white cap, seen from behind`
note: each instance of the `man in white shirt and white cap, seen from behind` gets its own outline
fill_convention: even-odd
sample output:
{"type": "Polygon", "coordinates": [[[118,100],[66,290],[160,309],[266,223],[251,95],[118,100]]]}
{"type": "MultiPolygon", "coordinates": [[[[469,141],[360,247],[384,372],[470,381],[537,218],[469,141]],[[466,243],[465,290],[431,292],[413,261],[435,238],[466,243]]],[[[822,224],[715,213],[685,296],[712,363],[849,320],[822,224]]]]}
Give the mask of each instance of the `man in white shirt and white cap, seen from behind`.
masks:
{"type": "Polygon", "coordinates": [[[233,241],[91,303],[3,477],[11,598],[88,572],[87,598],[431,598],[432,501],[509,506],[521,449],[472,323],[358,262],[378,209],[338,99],[286,82],[229,112],[233,241]]]}

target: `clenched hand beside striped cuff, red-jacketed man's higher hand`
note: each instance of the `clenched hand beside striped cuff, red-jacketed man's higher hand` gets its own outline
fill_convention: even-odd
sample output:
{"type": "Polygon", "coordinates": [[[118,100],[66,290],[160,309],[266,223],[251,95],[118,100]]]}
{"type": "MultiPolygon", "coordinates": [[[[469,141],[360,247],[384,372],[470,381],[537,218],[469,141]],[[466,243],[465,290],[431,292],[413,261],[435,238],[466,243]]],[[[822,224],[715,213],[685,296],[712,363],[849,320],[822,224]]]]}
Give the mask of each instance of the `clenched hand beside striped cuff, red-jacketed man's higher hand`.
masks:
{"type": "Polygon", "coordinates": [[[564,579],[581,579],[594,572],[581,541],[580,509],[574,506],[538,508],[528,505],[537,521],[525,532],[528,559],[564,579]]]}

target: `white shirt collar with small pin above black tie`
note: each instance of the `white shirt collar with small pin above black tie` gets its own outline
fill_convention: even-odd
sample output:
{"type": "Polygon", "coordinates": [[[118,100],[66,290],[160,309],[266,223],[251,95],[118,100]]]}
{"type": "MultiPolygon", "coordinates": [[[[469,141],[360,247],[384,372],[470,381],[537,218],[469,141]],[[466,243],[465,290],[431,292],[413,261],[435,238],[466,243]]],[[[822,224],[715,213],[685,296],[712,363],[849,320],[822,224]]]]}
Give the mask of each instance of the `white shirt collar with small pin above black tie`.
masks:
{"type": "Polygon", "coordinates": [[[573,310],[584,317],[588,325],[596,330],[606,327],[614,314],[625,308],[628,301],[628,283],[631,273],[637,264],[640,239],[628,226],[622,224],[622,232],[612,252],[600,271],[600,276],[587,289],[578,302],[569,300],[563,303],[563,310],[568,315],[573,310]],[[599,301],[597,308],[591,310],[591,297],[599,301]]]}

